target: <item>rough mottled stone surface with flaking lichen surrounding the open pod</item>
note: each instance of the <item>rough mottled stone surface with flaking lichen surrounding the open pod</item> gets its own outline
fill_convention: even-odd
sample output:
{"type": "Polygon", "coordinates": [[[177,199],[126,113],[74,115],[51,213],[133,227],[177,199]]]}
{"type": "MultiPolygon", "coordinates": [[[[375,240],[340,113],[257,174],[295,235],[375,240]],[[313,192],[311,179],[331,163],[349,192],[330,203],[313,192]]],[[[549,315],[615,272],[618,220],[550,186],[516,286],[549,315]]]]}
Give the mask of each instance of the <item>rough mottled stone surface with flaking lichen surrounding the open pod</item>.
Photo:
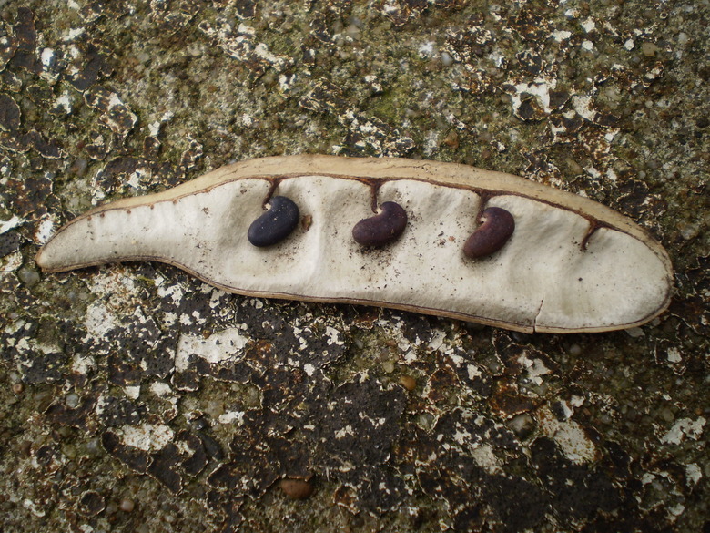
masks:
{"type": "Polygon", "coordinates": [[[710,529],[706,0],[0,9],[0,529],[710,529]],[[35,267],[93,204],[299,152],[603,201],[664,242],[675,301],[525,336],[35,267]]]}

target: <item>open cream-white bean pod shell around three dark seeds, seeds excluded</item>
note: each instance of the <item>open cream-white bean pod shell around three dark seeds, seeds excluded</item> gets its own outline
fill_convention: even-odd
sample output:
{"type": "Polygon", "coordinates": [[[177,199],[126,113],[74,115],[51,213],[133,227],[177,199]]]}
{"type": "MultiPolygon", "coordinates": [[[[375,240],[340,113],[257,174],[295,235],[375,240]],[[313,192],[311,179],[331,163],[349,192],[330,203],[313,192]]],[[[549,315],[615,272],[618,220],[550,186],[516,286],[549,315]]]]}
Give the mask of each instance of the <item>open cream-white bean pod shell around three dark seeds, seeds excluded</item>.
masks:
{"type": "Polygon", "coordinates": [[[663,313],[671,261],[620,213],[533,181],[433,161],[291,156],[235,163],[155,195],[118,200],[72,220],[36,261],[46,272],[114,261],[164,261],[229,292],[350,302],[430,313],[522,332],[602,332],[663,313]],[[247,240],[273,186],[312,223],[269,248],[247,240]],[[373,190],[410,214],[408,231],[362,251],[352,220],[373,190]],[[515,231],[487,261],[463,243],[482,201],[515,231]]]}

